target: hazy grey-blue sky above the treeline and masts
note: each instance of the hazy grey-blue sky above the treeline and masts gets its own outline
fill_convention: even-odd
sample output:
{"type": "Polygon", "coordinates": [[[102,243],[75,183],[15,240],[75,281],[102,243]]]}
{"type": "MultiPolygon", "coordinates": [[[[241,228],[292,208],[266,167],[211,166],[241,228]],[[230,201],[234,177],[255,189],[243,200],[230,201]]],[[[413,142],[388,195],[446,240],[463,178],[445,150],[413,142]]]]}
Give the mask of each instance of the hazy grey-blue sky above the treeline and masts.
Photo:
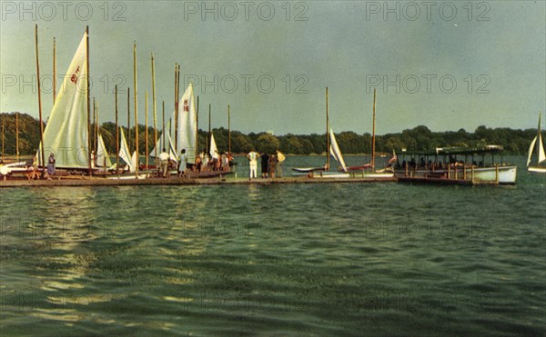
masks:
{"type": "MultiPolygon", "coordinates": [[[[325,88],[336,133],[417,125],[432,131],[533,128],[546,111],[544,1],[0,1],[1,112],[38,116],[38,25],[45,118],[89,26],[91,96],[101,122],[114,121],[118,84],[126,123],[133,111],[133,43],[138,120],[156,59],[157,113],[174,111],[174,67],[199,96],[199,127],[244,133],[323,134],[325,88]],[[62,80],[57,80],[57,87],[62,80]],[[58,90],[58,88],[57,88],[58,90]]],[[[184,88],[180,89],[181,94],[184,88]]],[[[180,94],[180,95],[181,95],[180,94]]],[[[132,119],[134,117],[131,117],[132,119]]]]}

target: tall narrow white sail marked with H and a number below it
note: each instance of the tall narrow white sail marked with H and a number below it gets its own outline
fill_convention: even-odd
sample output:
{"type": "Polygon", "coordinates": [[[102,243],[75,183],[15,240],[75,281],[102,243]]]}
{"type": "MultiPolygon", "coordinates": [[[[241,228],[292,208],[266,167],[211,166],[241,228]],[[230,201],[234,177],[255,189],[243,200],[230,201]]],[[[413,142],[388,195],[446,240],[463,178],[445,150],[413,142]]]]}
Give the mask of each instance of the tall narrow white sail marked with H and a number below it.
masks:
{"type": "Polygon", "coordinates": [[[196,158],[197,110],[193,84],[187,85],[186,92],[178,102],[177,154],[186,150],[187,163],[194,164],[196,158]]]}

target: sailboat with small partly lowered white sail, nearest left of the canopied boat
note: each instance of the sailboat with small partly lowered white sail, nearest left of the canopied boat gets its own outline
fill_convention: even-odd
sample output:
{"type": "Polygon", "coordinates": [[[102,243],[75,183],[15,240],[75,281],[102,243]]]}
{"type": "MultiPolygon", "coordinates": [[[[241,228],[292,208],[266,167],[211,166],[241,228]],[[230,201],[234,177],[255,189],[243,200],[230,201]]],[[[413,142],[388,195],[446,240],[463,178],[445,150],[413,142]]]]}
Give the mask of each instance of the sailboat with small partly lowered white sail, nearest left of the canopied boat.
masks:
{"type": "Polygon", "coordinates": [[[349,178],[349,173],[347,173],[347,166],[343,160],[343,156],[339,151],[338,142],[336,141],[336,136],[334,132],[329,127],[329,114],[328,114],[328,87],[326,88],[326,164],[323,167],[295,167],[292,168],[294,175],[308,175],[312,177],[323,177],[323,178],[349,178]],[[330,154],[338,161],[341,165],[341,172],[329,172],[329,156],[330,154]],[[317,174],[315,174],[317,173],[317,174]]]}

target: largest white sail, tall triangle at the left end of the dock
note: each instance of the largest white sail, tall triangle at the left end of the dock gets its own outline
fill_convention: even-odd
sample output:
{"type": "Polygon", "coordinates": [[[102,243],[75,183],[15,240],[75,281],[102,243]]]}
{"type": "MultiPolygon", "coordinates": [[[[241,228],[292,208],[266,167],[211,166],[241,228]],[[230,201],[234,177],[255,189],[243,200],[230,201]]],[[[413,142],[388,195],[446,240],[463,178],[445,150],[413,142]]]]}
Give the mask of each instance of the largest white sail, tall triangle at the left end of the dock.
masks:
{"type": "MultiPolygon", "coordinates": [[[[86,37],[84,34],[76,55],[66,70],[63,86],[44,131],[44,155],[56,154],[56,166],[88,167],[87,149],[87,67],[86,37]]],[[[41,161],[41,155],[38,155],[41,161]]],[[[38,162],[39,162],[38,161],[38,162]]]]}

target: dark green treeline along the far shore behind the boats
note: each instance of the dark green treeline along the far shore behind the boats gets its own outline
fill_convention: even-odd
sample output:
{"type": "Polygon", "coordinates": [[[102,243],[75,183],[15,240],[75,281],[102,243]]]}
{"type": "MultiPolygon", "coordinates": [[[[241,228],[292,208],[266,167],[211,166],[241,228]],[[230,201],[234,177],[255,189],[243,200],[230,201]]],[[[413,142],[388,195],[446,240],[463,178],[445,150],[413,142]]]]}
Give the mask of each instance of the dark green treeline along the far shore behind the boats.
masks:
{"type": "MultiPolygon", "coordinates": [[[[28,114],[19,115],[19,154],[33,154],[40,142],[40,126],[38,121],[28,114]]],[[[15,113],[0,114],[1,124],[5,128],[5,155],[15,154],[15,113]]],[[[128,133],[131,135],[131,151],[135,148],[135,127],[128,133]]],[[[376,151],[389,153],[401,149],[408,151],[428,151],[435,147],[445,146],[481,146],[485,144],[500,144],[507,154],[526,154],[536,129],[513,130],[511,128],[491,129],[484,125],[478,126],[473,133],[464,129],[459,131],[432,132],[427,126],[419,125],[396,134],[376,136],[376,151]]],[[[145,153],[146,128],[138,126],[139,150],[145,153]]],[[[112,122],[100,125],[100,134],[109,153],[116,151],[116,124],[112,122]]],[[[157,130],[160,135],[160,130],[157,130]]],[[[207,131],[199,130],[199,151],[207,146],[207,131]]],[[[213,129],[213,134],[219,151],[227,151],[227,129],[213,129]]],[[[336,134],[341,153],[369,154],[371,134],[356,134],[352,131],[336,134]]],[[[174,139],[173,139],[174,141],[174,139]]],[[[148,127],[148,151],[154,148],[154,129],[148,127]]],[[[325,134],[285,134],[272,135],[268,133],[242,134],[231,132],[231,152],[234,154],[248,153],[252,148],[258,152],[272,153],[279,149],[284,154],[322,154],[326,150],[325,134]]]]}

